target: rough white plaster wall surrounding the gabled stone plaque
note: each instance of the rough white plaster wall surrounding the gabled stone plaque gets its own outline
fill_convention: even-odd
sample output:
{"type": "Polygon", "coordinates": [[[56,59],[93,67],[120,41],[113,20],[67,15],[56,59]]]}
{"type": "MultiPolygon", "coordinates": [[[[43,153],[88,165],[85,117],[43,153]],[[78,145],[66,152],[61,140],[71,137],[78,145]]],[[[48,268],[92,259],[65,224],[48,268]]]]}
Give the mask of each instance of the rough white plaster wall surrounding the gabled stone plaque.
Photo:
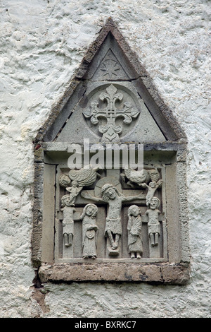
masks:
{"type": "Polygon", "coordinates": [[[210,317],[209,1],[0,4],[0,316],[210,317]],[[191,283],[49,283],[34,288],[32,141],[110,16],[188,138],[191,283]]]}

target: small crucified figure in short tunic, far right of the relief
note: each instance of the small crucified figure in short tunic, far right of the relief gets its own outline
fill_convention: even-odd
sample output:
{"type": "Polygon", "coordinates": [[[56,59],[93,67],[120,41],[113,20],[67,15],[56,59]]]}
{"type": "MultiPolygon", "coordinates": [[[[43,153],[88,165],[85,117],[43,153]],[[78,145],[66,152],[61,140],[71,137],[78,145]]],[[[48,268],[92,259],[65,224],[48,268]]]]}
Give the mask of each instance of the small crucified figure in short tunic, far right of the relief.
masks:
{"type": "Polygon", "coordinates": [[[158,245],[158,238],[160,235],[159,215],[161,212],[158,210],[160,199],[153,197],[149,206],[150,208],[146,211],[146,215],[148,215],[148,235],[151,239],[151,245],[154,247],[158,245]]]}

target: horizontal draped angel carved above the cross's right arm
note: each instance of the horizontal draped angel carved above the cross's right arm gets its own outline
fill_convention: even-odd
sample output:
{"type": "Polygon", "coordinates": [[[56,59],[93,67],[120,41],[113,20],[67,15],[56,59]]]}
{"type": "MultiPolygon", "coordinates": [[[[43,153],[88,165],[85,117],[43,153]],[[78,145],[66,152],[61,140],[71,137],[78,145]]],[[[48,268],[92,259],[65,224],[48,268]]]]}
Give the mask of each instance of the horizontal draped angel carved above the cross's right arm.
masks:
{"type": "Polygon", "coordinates": [[[134,187],[134,183],[139,184],[139,186],[142,186],[142,184],[148,182],[149,179],[149,174],[146,170],[143,169],[141,171],[136,171],[133,170],[131,167],[125,168],[124,174],[121,175],[124,179],[124,182],[125,182],[125,177],[129,179],[129,182],[127,182],[127,184],[132,188],[134,187]]]}

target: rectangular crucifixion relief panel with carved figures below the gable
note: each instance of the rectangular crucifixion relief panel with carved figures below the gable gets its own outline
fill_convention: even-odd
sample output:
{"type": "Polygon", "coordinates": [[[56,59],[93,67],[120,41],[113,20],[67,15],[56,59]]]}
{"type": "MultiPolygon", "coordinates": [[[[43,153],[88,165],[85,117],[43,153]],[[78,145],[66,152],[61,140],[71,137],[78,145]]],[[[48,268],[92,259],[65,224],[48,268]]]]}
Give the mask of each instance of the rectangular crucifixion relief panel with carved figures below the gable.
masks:
{"type": "Polygon", "coordinates": [[[163,166],[103,172],[91,166],[68,172],[59,167],[56,232],[63,237],[58,234],[57,261],[165,261],[165,212],[158,210],[164,208],[162,177],[163,166]]]}

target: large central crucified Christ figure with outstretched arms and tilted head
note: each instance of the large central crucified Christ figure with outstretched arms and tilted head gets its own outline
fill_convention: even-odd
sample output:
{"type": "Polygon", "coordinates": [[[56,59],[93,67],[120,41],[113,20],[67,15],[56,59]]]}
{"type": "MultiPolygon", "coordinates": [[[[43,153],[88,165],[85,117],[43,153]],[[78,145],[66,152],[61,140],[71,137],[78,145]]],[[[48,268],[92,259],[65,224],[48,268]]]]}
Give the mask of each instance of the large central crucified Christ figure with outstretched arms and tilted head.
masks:
{"type": "MultiPolygon", "coordinates": [[[[142,194],[142,193],[141,193],[142,194]]],[[[82,191],[81,195],[84,198],[91,199],[98,203],[108,203],[108,215],[106,217],[105,237],[110,240],[110,245],[113,250],[117,249],[122,235],[121,210],[122,203],[127,201],[134,201],[141,199],[141,194],[136,196],[125,197],[117,190],[113,184],[104,184],[101,189],[101,198],[92,196],[91,194],[82,191]]]]}

